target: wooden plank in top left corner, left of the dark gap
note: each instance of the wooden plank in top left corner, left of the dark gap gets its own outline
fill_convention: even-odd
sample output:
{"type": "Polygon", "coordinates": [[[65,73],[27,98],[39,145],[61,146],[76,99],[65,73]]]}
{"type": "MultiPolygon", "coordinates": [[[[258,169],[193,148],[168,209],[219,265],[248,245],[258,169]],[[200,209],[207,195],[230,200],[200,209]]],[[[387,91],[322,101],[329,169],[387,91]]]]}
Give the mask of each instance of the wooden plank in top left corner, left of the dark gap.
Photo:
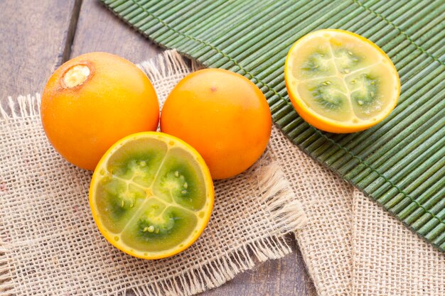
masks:
{"type": "Polygon", "coordinates": [[[0,101],[41,92],[69,54],[80,0],[0,1],[0,101]]]}

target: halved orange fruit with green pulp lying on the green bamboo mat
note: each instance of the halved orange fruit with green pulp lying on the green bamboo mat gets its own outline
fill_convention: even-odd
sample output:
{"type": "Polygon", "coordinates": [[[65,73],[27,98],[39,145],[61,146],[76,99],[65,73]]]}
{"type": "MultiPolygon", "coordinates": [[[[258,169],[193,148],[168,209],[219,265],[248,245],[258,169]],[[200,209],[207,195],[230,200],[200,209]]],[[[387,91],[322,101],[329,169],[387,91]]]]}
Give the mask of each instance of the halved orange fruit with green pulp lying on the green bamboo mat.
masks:
{"type": "Polygon", "coordinates": [[[400,95],[390,58],[370,40],[336,29],[314,31],[296,41],[284,76],[299,115],[331,133],[374,126],[390,114],[400,95]]]}

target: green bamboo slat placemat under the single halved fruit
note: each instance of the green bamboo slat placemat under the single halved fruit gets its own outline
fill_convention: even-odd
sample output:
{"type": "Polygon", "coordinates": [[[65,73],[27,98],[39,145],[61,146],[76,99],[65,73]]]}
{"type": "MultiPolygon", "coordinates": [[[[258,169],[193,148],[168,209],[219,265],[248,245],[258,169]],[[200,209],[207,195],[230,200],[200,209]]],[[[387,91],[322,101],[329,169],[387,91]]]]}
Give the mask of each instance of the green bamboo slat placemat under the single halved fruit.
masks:
{"type": "Polygon", "coordinates": [[[445,1],[102,0],[166,48],[250,78],[291,141],[445,251],[445,1]],[[301,36],[341,28],[395,63],[400,101],[360,133],[324,133],[289,103],[284,60],[301,36]]]}

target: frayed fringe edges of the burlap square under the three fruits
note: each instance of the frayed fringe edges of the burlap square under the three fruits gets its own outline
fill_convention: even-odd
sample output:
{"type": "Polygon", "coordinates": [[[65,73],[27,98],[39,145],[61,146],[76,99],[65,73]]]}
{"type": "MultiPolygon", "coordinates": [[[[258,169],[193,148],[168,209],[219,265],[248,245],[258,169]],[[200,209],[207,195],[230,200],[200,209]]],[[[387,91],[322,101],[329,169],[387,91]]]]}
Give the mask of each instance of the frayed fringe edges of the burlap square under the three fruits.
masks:
{"type": "MultiPolygon", "coordinates": [[[[151,80],[190,72],[190,66],[176,50],[168,50],[154,60],[142,62],[139,67],[151,80]]],[[[200,65],[192,62],[191,68],[197,70],[200,65]]],[[[19,96],[15,101],[9,97],[7,108],[0,107],[0,123],[3,121],[7,125],[15,119],[33,119],[39,116],[40,101],[40,94],[19,96]]],[[[158,283],[139,287],[126,287],[123,283],[115,295],[126,295],[128,290],[132,290],[136,296],[194,295],[223,285],[237,273],[254,268],[257,262],[282,258],[291,253],[289,241],[284,235],[306,224],[307,218],[301,204],[290,189],[284,172],[274,161],[267,165],[258,162],[249,172],[254,174],[259,187],[263,189],[259,200],[270,213],[270,219],[277,225],[277,233],[247,243],[227,253],[225,258],[204,262],[193,270],[184,270],[181,275],[165,278],[158,283]]],[[[9,260],[8,236],[2,225],[0,217],[0,296],[9,296],[15,294],[15,270],[9,260]]]]}

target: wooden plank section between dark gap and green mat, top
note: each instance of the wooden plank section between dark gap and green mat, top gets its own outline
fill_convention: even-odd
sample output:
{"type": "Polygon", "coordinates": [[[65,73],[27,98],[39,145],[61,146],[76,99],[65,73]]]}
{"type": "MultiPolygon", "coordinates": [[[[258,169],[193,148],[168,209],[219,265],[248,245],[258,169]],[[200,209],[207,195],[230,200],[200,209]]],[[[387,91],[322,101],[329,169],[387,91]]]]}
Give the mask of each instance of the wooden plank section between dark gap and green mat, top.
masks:
{"type": "Polygon", "coordinates": [[[92,51],[114,53],[137,63],[154,57],[161,48],[120,21],[100,1],[84,0],[71,57],[92,51]]]}

